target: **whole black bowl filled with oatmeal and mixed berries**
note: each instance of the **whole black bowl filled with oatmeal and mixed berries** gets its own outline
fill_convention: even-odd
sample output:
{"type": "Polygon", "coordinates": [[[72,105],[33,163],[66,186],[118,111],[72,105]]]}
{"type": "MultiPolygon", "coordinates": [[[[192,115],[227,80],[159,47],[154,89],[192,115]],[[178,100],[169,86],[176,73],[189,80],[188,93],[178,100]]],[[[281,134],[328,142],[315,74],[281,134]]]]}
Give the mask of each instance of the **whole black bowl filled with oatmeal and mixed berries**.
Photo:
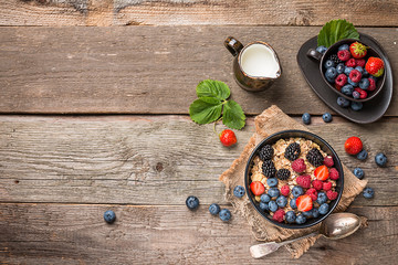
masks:
{"type": "Polygon", "coordinates": [[[303,130],[280,131],[264,139],[245,169],[245,188],[255,210],[287,229],[322,222],[342,197],[343,179],[333,148],[303,130]]]}

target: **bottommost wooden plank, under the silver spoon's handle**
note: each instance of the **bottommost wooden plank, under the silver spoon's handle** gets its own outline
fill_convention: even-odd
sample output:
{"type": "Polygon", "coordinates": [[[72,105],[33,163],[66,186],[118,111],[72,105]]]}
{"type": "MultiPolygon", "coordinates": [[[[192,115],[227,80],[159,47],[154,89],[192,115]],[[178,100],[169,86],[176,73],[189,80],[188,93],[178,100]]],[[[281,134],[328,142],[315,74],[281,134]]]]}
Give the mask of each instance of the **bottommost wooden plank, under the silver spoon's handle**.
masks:
{"type": "MultiPolygon", "coordinates": [[[[250,257],[255,244],[245,220],[229,223],[186,206],[0,204],[0,259],[27,264],[392,264],[398,208],[352,208],[369,226],[339,240],[321,239],[300,259],[286,250],[265,259],[250,257]],[[104,211],[117,220],[107,225],[104,211]],[[371,242],[371,247],[367,242],[371,242]],[[333,256],[333,258],[331,258],[333,256]]],[[[228,206],[230,208],[230,206],[228,206]]],[[[265,221],[264,221],[265,222],[265,221]]]]}

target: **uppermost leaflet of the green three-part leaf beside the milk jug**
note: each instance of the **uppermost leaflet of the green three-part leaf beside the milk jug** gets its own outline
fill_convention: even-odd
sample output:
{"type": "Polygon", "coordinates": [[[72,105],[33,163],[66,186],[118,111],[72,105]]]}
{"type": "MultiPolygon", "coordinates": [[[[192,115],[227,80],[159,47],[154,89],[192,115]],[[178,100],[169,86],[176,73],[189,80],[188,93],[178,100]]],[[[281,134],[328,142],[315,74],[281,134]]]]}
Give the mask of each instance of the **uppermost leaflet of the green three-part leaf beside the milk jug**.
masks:
{"type": "Polygon", "coordinates": [[[205,80],[197,86],[198,97],[216,97],[226,100],[231,94],[228,85],[221,81],[205,80]]]}

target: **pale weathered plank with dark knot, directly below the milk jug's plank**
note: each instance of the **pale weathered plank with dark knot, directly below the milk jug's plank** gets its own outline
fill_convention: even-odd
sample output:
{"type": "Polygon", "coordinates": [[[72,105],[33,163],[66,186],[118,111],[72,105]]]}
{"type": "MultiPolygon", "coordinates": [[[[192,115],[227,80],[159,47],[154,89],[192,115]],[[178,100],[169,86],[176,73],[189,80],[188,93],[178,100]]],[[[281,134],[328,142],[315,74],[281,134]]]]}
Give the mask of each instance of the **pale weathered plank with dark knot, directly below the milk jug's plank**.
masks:
{"type": "MultiPolygon", "coordinates": [[[[348,168],[365,170],[376,198],[358,197],[356,205],[398,204],[397,118],[366,126],[317,118],[308,128],[348,168]],[[344,141],[353,135],[364,140],[368,161],[345,153],[344,141]],[[373,161],[380,150],[389,159],[383,169],[373,161]]],[[[211,125],[198,126],[187,116],[0,116],[0,202],[180,205],[189,194],[203,203],[222,201],[218,178],[253,131],[250,118],[229,149],[211,125]]]]}

